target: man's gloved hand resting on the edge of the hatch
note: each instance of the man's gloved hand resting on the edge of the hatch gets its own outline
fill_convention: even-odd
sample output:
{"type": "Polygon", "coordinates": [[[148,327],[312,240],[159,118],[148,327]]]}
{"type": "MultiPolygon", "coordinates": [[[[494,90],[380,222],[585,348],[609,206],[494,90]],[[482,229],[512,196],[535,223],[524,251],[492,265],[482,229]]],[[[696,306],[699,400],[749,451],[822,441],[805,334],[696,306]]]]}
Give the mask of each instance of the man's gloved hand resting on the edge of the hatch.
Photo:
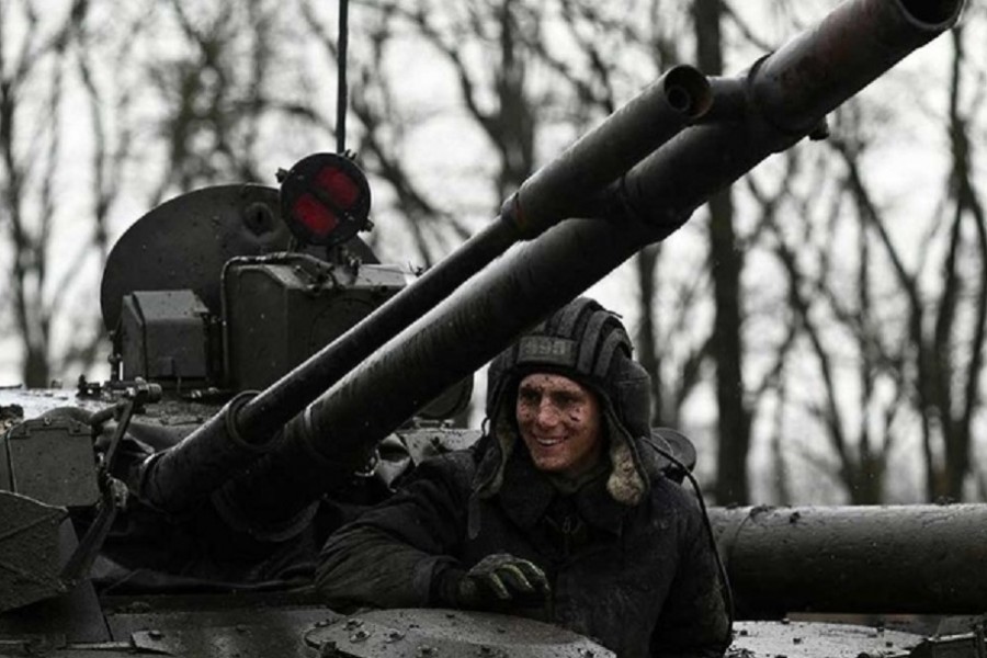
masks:
{"type": "Polygon", "coordinates": [[[545,572],[531,560],[507,553],[488,555],[458,583],[464,608],[506,608],[510,603],[541,604],[551,593],[545,572]]]}

